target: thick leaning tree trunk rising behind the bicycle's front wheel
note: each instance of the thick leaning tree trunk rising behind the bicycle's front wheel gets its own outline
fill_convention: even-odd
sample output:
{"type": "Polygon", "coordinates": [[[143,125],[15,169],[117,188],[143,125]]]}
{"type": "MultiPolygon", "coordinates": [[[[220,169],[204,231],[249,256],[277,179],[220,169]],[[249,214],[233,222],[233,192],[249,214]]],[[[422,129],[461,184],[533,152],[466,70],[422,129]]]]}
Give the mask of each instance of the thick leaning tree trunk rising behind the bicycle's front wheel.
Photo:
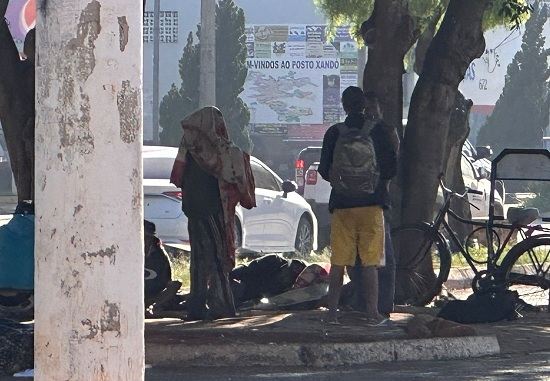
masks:
{"type": "MultiPolygon", "coordinates": [[[[401,222],[430,221],[438,176],[446,169],[449,123],[458,85],[470,62],[485,48],[482,18],[485,0],[451,0],[441,27],[426,53],[422,75],[411,99],[407,131],[402,144],[400,176],[401,222]]],[[[402,258],[396,253],[399,262],[402,258]]],[[[433,280],[431,258],[421,268],[427,286],[433,280]],[[429,262],[429,263],[427,263],[429,262]]],[[[399,267],[399,266],[398,266],[399,267]]],[[[401,274],[402,275],[402,274],[401,274]]],[[[398,274],[400,289],[409,289],[410,279],[398,274]]]]}

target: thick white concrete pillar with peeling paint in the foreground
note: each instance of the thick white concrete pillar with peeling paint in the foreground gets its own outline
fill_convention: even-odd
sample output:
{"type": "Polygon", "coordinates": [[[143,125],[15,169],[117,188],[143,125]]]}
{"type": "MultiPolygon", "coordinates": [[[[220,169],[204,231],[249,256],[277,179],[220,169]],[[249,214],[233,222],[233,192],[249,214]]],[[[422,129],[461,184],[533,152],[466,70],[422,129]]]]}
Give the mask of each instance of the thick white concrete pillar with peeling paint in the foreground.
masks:
{"type": "Polygon", "coordinates": [[[37,2],[35,380],[143,380],[142,3],[37,2]]]}

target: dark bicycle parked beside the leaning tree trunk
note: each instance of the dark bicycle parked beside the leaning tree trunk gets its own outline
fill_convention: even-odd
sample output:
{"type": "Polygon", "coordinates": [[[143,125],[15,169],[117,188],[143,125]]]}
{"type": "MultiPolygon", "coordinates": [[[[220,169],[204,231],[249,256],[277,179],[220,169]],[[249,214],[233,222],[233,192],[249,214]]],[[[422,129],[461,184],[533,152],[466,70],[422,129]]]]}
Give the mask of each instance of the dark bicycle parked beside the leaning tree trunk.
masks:
{"type": "Polygon", "coordinates": [[[539,218],[538,210],[511,208],[508,223],[495,222],[499,217],[492,216],[492,212],[487,221],[465,219],[451,210],[452,199],[465,198],[468,193],[483,193],[471,189],[466,189],[464,193],[456,193],[445,187],[441,176],[439,182],[444,194],[444,203],[434,220],[431,223],[402,225],[391,231],[394,251],[398,258],[398,277],[408,277],[413,287],[407,292],[413,296],[398,303],[424,306],[441,292],[451,270],[452,244],[458,250],[454,255],[461,255],[474,273],[471,283],[474,292],[519,286],[516,291],[520,297],[528,293],[533,299],[536,293],[543,293],[548,305],[550,229],[540,225],[529,225],[539,218]],[[449,225],[448,216],[473,227],[464,243],[449,225]],[[501,240],[501,234],[497,229],[508,231],[504,239],[501,240]],[[474,258],[470,253],[474,246],[474,238],[480,237],[480,233],[483,233],[482,237],[485,236],[486,242],[490,243],[486,246],[487,258],[484,260],[474,258]],[[520,240],[508,249],[508,245],[517,235],[520,240]],[[428,258],[432,260],[429,261],[428,258]],[[484,265],[483,269],[480,268],[481,265],[484,265]],[[428,274],[428,277],[422,274],[428,274]]]}

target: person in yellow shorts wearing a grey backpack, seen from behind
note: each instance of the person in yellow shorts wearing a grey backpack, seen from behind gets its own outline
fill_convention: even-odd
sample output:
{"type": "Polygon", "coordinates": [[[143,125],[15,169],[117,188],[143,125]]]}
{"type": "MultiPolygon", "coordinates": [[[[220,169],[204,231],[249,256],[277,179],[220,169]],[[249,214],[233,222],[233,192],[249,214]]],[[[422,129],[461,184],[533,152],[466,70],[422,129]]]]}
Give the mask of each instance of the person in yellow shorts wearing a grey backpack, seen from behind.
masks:
{"type": "Polygon", "coordinates": [[[330,182],[329,211],[332,213],[332,248],[328,314],[326,321],[338,324],[338,300],[346,266],[361,261],[367,325],[385,324],[378,312],[378,273],[384,266],[384,205],[389,180],[397,171],[397,152],[384,139],[385,123],[379,114],[363,113],[367,98],[356,86],[342,93],[347,116],[331,126],[323,138],[319,174],[330,182]]]}

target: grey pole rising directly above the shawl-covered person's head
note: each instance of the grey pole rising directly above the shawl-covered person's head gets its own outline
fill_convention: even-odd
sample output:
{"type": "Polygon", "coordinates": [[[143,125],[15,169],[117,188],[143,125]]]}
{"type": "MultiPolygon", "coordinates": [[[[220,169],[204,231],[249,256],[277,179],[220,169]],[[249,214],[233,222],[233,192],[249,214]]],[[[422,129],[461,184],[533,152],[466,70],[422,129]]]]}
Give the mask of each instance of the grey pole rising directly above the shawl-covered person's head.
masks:
{"type": "Polygon", "coordinates": [[[216,105],[216,0],[201,0],[199,107],[216,105]]]}

